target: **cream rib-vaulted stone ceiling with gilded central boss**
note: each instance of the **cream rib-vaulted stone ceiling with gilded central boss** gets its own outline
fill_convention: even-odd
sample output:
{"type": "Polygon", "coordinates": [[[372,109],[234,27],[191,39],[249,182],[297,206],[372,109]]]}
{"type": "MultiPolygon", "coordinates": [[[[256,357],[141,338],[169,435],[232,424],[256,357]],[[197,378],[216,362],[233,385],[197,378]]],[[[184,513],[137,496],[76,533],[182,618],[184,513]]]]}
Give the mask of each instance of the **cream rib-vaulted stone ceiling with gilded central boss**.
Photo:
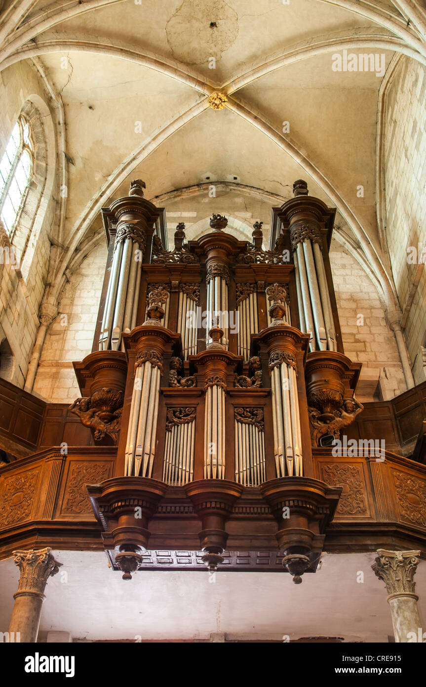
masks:
{"type": "Polygon", "coordinates": [[[67,155],[58,174],[67,177],[67,249],[58,279],[82,242],[102,240],[100,207],[127,194],[135,177],[166,207],[170,229],[185,221],[199,230],[212,212],[222,212],[246,235],[259,219],[267,233],[270,207],[303,178],[312,195],[338,207],[338,238],[379,278],[390,302],[376,211],[378,102],[386,76],[333,71],[332,56],[344,49],[383,54],[388,67],[402,53],[425,64],[421,31],[407,22],[405,5],[3,2],[0,69],[30,60],[62,111],[57,139],[67,155]],[[228,96],[222,111],[209,107],[213,91],[228,96]],[[215,181],[221,183],[211,197],[215,181]]]}

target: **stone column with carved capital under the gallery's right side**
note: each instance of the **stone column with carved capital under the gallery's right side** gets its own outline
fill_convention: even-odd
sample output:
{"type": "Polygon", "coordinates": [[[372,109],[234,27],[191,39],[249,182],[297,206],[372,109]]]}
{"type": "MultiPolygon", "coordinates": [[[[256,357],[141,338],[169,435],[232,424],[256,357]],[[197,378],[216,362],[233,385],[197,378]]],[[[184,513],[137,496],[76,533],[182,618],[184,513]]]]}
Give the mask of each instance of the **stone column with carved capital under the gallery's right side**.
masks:
{"type": "Polygon", "coordinates": [[[414,573],[420,551],[387,551],[378,549],[375,563],[372,564],[377,577],[386,585],[388,603],[392,613],[395,642],[415,642],[418,628],[418,596],[414,594],[414,573]],[[412,634],[414,633],[414,635],[412,634]]]}

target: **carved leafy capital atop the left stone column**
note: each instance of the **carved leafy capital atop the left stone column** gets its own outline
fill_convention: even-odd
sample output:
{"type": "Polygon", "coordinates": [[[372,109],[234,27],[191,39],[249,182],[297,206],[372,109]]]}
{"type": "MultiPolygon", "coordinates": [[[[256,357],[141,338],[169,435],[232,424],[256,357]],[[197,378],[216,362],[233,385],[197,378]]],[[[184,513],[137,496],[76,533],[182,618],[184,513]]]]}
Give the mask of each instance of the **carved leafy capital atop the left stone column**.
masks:
{"type": "MultiPolygon", "coordinates": [[[[15,565],[21,570],[19,586],[16,594],[32,592],[43,595],[47,578],[56,575],[62,563],[55,561],[50,548],[30,549],[29,551],[14,551],[15,565]]],[[[14,594],[14,596],[16,596],[14,594]]]]}

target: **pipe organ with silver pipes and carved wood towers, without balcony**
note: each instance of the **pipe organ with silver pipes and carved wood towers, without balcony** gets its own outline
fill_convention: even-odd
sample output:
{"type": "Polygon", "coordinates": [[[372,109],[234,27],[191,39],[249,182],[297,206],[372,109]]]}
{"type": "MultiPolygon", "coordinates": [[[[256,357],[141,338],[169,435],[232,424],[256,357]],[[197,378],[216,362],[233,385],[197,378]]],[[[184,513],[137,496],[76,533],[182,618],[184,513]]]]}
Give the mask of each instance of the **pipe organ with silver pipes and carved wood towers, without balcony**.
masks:
{"type": "Polygon", "coordinates": [[[283,565],[300,581],[315,568],[336,503],[314,477],[312,447],[359,412],[359,365],[342,349],[328,262],[334,211],[296,181],[294,197],[274,208],[274,249],[263,248],[261,222],[240,241],[213,214],[189,243],[178,224],[166,250],[155,234],[161,209],[143,188],[132,182],[128,197],[102,210],[111,244],[97,332],[91,356],[75,363],[94,379],[98,405],[103,361],[127,366],[115,405],[106,393],[99,413],[92,397],[79,401],[82,421],[90,414],[103,441],[117,444],[115,477],[93,491],[96,508],[109,504],[103,522],[117,565],[137,570],[158,502],[176,493],[192,504],[203,560],[215,570],[235,504],[252,493],[269,504],[283,565]]]}

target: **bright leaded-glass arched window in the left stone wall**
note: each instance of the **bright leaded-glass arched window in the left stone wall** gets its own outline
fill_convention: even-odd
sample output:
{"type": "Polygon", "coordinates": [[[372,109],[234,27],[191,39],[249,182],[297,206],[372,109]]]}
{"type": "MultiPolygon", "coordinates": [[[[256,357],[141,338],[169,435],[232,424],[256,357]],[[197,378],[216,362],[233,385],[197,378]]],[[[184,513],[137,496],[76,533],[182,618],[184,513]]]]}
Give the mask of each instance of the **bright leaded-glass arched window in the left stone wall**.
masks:
{"type": "Polygon", "coordinates": [[[0,160],[0,217],[12,236],[32,177],[34,142],[25,117],[16,122],[0,160]]]}

